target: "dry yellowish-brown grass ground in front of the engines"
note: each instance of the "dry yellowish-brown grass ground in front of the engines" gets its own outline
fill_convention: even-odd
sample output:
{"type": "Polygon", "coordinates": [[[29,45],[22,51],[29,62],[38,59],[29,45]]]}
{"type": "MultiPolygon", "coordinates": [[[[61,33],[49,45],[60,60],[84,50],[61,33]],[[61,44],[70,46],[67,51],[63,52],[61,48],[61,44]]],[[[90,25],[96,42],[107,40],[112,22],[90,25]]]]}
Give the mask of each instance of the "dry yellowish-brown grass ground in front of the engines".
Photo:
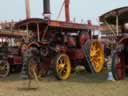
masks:
{"type": "Polygon", "coordinates": [[[77,72],[67,81],[57,81],[55,77],[43,78],[33,88],[23,89],[19,74],[0,80],[0,96],[128,96],[128,81],[107,81],[106,74],[77,72]]]}

